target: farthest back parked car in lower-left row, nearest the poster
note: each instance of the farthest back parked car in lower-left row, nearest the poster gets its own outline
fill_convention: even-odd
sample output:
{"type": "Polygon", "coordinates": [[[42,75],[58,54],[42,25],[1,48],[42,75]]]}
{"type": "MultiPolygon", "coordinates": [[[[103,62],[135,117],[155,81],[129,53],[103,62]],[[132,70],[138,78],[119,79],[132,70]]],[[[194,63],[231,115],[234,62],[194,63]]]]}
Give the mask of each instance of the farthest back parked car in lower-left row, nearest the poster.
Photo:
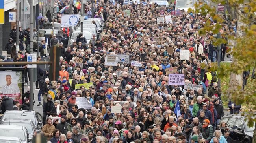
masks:
{"type": "Polygon", "coordinates": [[[5,119],[28,119],[34,123],[36,130],[41,130],[43,127],[43,117],[40,113],[30,110],[7,110],[4,112],[0,120],[0,124],[4,122],[5,119]]]}

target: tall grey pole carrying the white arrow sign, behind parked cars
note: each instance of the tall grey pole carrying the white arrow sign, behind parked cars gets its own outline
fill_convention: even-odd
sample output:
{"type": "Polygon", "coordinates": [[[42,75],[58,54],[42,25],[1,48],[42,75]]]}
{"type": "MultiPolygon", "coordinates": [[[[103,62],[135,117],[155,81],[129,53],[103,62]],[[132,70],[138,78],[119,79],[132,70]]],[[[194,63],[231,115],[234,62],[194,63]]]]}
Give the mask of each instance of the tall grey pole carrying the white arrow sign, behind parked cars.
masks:
{"type": "MultiPolygon", "coordinates": [[[[19,0],[17,0],[19,1],[19,0]]],[[[33,53],[34,51],[34,32],[33,32],[33,27],[34,27],[34,13],[33,13],[33,0],[30,0],[30,54],[33,53]]],[[[29,69],[29,82],[30,82],[30,110],[34,110],[34,69],[31,68],[29,69]]]]}

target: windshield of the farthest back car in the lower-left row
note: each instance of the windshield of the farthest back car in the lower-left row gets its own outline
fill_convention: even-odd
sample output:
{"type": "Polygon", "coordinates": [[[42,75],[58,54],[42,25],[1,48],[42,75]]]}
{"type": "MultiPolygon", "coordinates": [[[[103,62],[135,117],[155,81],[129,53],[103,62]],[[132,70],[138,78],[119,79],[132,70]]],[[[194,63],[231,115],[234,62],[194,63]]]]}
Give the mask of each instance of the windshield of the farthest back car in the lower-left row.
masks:
{"type": "MultiPolygon", "coordinates": [[[[10,113],[10,112],[7,112],[7,113],[4,113],[4,116],[2,117],[3,119],[27,119],[27,120],[32,120],[32,122],[36,125],[36,121],[35,121],[35,118],[33,113],[32,112],[23,112],[23,114],[21,115],[22,113],[18,114],[18,113],[10,113]]],[[[4,120],[2,120],[4,121],[4,120]]]]}

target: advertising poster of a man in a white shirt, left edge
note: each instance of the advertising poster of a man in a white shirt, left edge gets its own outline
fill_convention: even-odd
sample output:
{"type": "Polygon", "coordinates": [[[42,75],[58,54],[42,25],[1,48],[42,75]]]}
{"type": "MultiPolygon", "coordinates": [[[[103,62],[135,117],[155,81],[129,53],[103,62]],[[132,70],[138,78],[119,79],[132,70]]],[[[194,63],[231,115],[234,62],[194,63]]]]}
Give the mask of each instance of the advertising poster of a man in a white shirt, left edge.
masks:
{"type": "Polygon", "coordinates": [[[22,103],[24,68],[0,68],[0,96],[8,96],[22,103]]]}

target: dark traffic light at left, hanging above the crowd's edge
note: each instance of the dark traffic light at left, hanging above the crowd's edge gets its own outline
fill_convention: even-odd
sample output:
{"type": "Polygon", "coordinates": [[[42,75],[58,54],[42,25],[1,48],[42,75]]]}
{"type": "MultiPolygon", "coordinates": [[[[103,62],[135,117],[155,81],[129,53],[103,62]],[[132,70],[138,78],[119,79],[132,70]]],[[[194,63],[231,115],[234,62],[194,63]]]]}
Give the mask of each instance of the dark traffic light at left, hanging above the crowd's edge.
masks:
{"type": "Polygon", "coordinates": [[[49,68],[49,79],[50,81],[56,81],[59,78],[59,57],[60,57],[60,48],[59,45],[54,45],[53,49],[50,51],[50,62],[52,64],[49,68]]]}

